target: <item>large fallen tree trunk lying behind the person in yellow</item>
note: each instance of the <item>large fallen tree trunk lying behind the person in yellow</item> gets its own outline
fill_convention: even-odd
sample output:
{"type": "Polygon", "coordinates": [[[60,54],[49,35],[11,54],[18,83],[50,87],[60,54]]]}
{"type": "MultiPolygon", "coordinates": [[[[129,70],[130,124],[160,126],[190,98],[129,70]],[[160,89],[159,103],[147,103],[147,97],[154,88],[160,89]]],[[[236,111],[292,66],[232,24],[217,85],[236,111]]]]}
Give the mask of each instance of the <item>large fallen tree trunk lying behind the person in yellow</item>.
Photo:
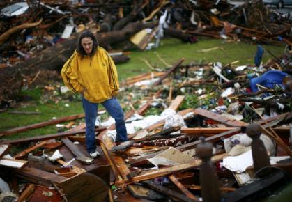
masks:
{"type": "MultiPolygon", "coordinates": [[[[110,49],[110,45],[128,40],[130,36],[141,29],[155,26],[154,22],[136,22],[125,26],[121,31],[97,33],[100,46],[110,49]]],[[[62,65],[68,60],[76,47],[79,33],[73,34],[68,40],[48,47],[33,58],[17,63],[12,67],[0,69],[0,103],[8,100],[15,100],[17,93],[24,85],[27,77],[34,77],[39,70],[61,70],[62,65]]]]}

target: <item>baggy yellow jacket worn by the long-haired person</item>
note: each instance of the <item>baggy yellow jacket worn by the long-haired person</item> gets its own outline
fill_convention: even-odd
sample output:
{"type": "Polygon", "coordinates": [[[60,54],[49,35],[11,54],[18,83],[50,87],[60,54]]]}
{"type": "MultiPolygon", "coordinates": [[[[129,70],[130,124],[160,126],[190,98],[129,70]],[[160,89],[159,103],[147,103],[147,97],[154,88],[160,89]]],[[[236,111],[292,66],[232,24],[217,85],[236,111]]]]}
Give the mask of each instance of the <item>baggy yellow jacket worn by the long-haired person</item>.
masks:
{"type": "Polygon", "coordinates": [[[116,65],[102,47],[98,47],[91,57],[75,51],[63,65],[61,75],[70,90],[84,93],[89,102],[109,100],[119,89],[116,65]]]}

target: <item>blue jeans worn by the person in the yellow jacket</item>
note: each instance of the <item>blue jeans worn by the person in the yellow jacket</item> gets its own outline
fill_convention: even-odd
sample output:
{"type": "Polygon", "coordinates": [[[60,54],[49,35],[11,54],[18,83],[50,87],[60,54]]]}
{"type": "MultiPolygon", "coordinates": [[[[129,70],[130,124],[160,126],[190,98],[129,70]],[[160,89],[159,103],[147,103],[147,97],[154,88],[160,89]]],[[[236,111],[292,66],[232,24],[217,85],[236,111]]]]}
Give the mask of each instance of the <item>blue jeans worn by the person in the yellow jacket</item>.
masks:
{"type": "MultiPolygon", "coordinates": [[[[127,141],[127,130],[125,128],[125,120],[123,109],[116,98],[105,100],[102,104],[107,112],[116,121],[116,141],[127,141]]],[[[95,120],[98,114],[98,103],[89,102],[82,98],[82,105],[85,113],[86,123],[86,150],[88,153],[94,152],[95,145],[95,120]]]]}

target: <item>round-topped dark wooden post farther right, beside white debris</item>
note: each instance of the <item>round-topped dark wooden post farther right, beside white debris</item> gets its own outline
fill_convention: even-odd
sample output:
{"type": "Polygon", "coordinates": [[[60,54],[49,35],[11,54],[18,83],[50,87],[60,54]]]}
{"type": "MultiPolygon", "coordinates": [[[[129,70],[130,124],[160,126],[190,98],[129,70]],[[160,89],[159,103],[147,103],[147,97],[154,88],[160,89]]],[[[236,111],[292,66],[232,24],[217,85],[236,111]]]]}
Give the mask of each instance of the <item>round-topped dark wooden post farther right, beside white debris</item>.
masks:
{"type": "Polygon", "coordinates": [[[261,132],[262,129],[258,123],[247,125],[246,133],[252,138],[252,158],[254,160],[255,171],[270,166],[270,158],[268,157],[267,150],[263,145],[263,141],[259,139],[261,132]]]}

